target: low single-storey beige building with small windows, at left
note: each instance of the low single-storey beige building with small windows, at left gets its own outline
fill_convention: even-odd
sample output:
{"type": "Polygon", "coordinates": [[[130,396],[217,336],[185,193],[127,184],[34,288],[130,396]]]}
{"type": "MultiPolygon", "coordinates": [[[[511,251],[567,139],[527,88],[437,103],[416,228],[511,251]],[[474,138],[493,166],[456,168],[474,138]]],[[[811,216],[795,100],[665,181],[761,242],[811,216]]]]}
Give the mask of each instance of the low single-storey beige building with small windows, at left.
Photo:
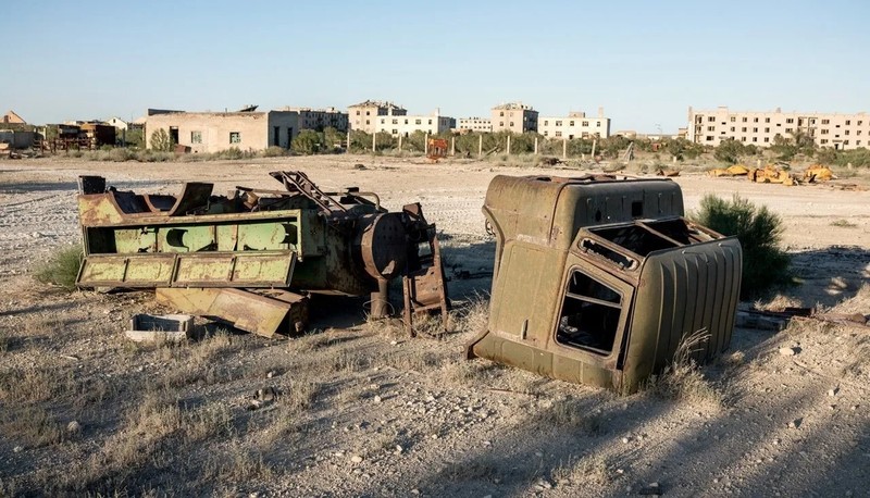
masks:
{"type": "Polygon", "coordinates": [[[299,113],[268,112],[163,112],[146,119],[147,148],[151,135],[165,129],[170,138],[190,152],[220,152],[229,148],[259,151],[276,146],[288,149],[299,135],[299,113]]]}

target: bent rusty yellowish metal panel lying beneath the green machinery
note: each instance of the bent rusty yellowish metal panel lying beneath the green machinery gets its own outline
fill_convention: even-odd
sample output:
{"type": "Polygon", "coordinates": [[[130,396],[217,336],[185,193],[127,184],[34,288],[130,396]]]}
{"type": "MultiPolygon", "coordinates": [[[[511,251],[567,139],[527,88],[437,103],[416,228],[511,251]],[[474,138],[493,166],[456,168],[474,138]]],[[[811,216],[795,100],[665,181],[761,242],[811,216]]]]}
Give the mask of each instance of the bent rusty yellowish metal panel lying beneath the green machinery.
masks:
{"type": "Polygon", "coordinates": [[[159,288],[157,301],[263,337],[293,335],[308,323],[308,296],[286,290],[159,288]]]}

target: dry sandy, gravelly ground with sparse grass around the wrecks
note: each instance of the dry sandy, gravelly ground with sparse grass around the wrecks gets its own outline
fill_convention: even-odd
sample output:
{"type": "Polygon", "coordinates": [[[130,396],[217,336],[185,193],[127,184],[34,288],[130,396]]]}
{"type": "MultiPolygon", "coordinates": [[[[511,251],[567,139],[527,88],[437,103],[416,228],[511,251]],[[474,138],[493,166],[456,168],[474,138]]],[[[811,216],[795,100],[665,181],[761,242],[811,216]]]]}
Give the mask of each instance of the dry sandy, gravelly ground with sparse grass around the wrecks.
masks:
{"type": "MultiPolygon", "coordinates": [[[[714,394],[620,398],[461,361],[486,277],[450,283],[457,332],[440,339],[407,339],[366,324],[359,300],[331,299],[315,301],[319,334],[303,338],[144,348],[123,331],[132,314],[160,311],[147,292],[67,295],[29,275],[78,238],[77,175],[223,191],[275,188],[275,170],[375,191],[393,210],[420,201],[444,234],[448,274],[492,269],[481,206],[493,176],[581,173],[373,157],[1,161],[0,495],[624,496],[658,483],[667,496],[868,496],[866,329],[737,329],[732,352],[704,370],[714,394]],[[247,410],[266,387],[283,396],[247,410]]],[[[775,302],[870,313],[870,192],[837,187],[862,177],[792,188],[675,180],[688,210],[708,192],[739,194],[784,219],[801,285],[775,302]]]]}

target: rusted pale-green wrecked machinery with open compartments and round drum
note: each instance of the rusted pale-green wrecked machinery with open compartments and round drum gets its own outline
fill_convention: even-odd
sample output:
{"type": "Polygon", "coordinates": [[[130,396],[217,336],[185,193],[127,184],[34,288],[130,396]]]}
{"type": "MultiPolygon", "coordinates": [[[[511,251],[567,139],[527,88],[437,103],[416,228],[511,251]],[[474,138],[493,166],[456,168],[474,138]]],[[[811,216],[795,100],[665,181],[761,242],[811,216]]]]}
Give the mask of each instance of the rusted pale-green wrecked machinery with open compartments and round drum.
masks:
{"type": "Polygon", "coordinates": [[[284,189],[186,183],[178,196],[79,178],[85,247],[80,287],[156,288],[159,301],[263,336],[299,332],[310,292],[371,295],[388,314],[389,281],[405,281],[406,325],[449,307],[435,225],[419,203],[388,212],[373,192],[325,192],[302,172],[273,172],[284,189]]]}

